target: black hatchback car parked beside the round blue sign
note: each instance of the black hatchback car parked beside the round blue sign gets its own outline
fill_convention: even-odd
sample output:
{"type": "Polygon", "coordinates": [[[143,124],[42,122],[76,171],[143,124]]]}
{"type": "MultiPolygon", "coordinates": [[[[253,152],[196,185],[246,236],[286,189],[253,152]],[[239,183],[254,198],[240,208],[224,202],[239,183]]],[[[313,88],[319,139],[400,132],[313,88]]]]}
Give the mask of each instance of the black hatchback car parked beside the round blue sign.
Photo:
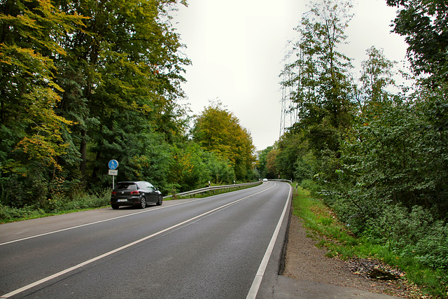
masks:
{"type": "Polygon", "coordinates": [[[148,203],[161,205],[162,193],[147,181],[120,181],[112,190],[111,206],[137,206],[144,209],[148,203]]]}

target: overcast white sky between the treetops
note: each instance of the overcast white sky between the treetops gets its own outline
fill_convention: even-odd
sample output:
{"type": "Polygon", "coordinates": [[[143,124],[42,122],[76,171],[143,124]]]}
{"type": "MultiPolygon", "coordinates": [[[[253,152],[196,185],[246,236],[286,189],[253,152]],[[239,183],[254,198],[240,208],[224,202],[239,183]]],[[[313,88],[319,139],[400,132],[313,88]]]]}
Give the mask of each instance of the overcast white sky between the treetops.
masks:
{"type": "MultiPolygon", "coordinates": [[[[316,0],[320,1],[320,0],[316,0]]],[[[314,2],[314,1],[313,1],[314,2]]],[[[182,85],[193,113],[219,99],[251,132],[257,150],[279,139],[281,88],[286,43],[309,11],[308,0],[189,0],[179,6],[174,27],[192,60],[182,85]]],[[[390,33],[395,8],[386,0],[354,0],[355,16],[341,50],[358,67],[370,46],[389,60],[405,60],[406,44],[390,33]]],[[[358,74],[359,69],[356,70],[358,74]]]]}

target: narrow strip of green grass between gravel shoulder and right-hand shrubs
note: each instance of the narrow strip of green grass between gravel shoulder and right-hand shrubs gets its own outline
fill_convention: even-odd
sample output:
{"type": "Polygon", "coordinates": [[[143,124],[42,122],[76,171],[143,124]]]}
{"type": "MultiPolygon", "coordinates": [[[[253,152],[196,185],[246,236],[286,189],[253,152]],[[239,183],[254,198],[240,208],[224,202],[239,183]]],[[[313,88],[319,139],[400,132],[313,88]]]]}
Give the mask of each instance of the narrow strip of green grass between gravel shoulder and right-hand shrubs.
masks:
{"type": "Polygon", "coordinates": [[[427,267],[412,257],[397,256],[388,246],[367,236],[355,237],[346,225],[337,221],[336,214],[329,207],[301,187],[293,197],[293,214],[303,219],[304,227],[320,240],[318,246],[328,249],[329,257],[381,260],[405,272],[407,283],[419,286],[426,293],[426,298],[448,298],[447,270],[427,267]]]}

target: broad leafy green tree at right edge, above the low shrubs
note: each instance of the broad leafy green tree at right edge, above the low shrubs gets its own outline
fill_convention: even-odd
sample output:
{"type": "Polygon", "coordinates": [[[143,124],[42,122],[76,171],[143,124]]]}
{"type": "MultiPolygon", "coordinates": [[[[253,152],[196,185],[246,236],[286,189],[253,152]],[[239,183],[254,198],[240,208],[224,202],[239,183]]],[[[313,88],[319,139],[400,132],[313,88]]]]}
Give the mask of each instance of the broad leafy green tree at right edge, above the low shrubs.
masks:
{"type": "Polygon", "coordinates": [[[406,101],[395,97],[382,104],[344,143],[336,206],[353,229],[365,229],[395,205],[423,207],[446,221],[447,139],[430,125],[429,96],[423,89],[406,101]]]}

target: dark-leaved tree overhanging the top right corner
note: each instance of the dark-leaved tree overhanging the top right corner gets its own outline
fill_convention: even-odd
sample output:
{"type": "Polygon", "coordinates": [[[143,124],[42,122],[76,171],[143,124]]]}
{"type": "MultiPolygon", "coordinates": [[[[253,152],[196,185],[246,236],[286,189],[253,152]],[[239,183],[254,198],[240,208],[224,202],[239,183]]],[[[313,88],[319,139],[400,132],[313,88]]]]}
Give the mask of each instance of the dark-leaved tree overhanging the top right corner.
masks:
{"type": "Polygon", "coordinates": [[[409,45],[407,57],[423,85],[430,108],[430,127],[446,141],[448,128],[448,4],[444,0],[387,0],[399,8],[393,31],[409,45]],[[429,94],[429,95],[428,95],[429,94]]]}

